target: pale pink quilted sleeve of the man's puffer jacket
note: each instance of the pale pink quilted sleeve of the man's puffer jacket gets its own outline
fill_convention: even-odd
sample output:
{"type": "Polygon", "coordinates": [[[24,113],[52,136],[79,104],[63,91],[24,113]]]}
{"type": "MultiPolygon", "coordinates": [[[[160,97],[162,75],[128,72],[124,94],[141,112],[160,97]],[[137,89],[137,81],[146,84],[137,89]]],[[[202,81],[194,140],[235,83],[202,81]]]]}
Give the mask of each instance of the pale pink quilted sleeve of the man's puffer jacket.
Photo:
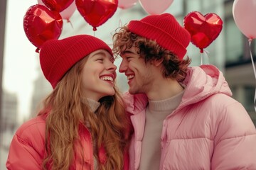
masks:
{"type": "Polygon", "coordinates": [[[227,106],[218,120],[211,169],[256,169],[256,130],[238,102],[227,106]]]}

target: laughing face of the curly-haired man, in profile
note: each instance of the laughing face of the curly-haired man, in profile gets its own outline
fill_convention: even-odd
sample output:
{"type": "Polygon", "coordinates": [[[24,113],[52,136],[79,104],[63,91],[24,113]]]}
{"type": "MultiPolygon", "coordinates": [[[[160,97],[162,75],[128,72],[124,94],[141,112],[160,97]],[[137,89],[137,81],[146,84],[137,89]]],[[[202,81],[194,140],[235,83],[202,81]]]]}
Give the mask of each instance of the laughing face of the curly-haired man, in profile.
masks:
{"type": "Polygon", "coordinates": [[[143,57],[137,53],[136,47],[122,52],[122,62],[119,72],[127,76],[130,94],[148,93],[154,81],[154,66],[145,63],[143,57]]]}

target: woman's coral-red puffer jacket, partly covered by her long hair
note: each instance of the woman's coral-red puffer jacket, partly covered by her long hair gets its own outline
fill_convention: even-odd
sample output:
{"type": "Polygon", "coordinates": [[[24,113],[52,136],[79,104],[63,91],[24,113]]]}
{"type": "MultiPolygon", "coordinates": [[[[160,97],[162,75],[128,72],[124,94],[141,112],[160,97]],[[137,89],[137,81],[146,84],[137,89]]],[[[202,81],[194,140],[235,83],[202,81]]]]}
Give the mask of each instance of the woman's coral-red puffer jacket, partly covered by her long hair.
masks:
{"type": "MultiPolygon", "coordinates": [[[[37,116],[18,128],[9,149],[6,167],[9,170],[41,170],[43,157],[46,154],[46,120],[43,116],[37,116]]],[[[85,164],[82,166],[82,158],[75,156],[70,170],[93,170],[92,137],[85,125],[80,124],[79,135],[83,147],[85,164]]],[[[80,149],[75,146],[75,149],[80,149]]],[[[105,149],[100,149],[100,161],[105,161],[105,149]]],[[[124,155],[124,170],[129,169],[129,156],[124,155]]]]}

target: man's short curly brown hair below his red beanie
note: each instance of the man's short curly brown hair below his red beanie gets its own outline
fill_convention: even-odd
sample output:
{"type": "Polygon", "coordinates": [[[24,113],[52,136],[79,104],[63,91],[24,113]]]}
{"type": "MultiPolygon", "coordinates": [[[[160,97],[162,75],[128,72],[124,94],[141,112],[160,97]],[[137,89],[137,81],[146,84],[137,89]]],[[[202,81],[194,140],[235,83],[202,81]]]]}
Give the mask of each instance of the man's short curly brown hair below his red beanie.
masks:
{"type": "Polygon", "coordinates": [[[113,35],[113,42],[113,52],[116,57],[131,47],[137,47],[138,55],[143,57],[145,62],[163,60],[162,74],[164,77],[178,81],[183,81],[186,77],[188,65],[191,63],[190,58],[186,57],[186,59],[180,60],[173,52],[158,45],[155,40],[134,34],[127,26],[117,28],[117,32],[113,35]]]}

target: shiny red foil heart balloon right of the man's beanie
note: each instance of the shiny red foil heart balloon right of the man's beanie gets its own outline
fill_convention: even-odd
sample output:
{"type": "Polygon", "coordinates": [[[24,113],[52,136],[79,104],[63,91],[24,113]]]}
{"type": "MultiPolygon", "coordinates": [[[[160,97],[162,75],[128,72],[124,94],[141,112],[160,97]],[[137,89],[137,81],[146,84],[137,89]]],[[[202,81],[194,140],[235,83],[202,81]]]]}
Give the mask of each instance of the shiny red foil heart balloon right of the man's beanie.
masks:
{"type": "Polygon", "coordinates": [[[191,42],[203,52],[203,48],[208,47],[220,34],[223,21],[215,13],[203,16],[200,12],[194,11],[185,16],[183,25],[191,34],[191,42]]]}

